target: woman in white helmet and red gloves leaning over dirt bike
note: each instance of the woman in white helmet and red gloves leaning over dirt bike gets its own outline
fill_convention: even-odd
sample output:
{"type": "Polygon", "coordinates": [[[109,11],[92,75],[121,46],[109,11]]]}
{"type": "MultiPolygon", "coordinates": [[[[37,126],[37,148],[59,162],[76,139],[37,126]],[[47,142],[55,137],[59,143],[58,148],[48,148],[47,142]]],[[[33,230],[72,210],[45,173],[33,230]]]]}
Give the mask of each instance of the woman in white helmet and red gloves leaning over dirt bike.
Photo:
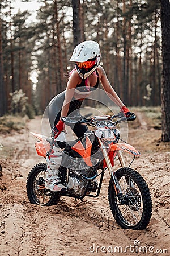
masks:
{"type": "MultiPolygon", "coordinates": [[[[95,41],[84,41],[75,47],[70,58],[70,61],[75,62],[75,68],[70,72],[66,90],[54,97],[48,106],[49,122],[54,138],[57,138],[64,130],[62,117],[67,117],[74,111],[79,112],[84,98],[97,89],[99,81],[111,100],[120,107],[120,111],[124,113],[125,117],[131,115],[129,109],[112,88],[103,67],[99,65],[100,58],[100,47],[95,41]]],[[[79,123],[76,123],[72,129],[78,138],[88,130],[86,125],[79,123]]],[[[48,166],[45,188],[50,191],[66,189],[58,177],[58,168],[55,170],[48,166]]]]}

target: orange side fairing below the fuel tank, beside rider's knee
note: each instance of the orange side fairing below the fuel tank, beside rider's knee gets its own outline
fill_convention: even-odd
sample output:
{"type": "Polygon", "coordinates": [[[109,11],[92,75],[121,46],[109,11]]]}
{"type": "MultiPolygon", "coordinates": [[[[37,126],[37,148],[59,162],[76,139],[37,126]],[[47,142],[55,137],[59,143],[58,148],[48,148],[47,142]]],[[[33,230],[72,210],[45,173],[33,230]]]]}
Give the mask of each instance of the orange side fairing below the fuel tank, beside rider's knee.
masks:
{"type": "Polygon", "coordinates": [[[83,143],[81,141],[78,141],[74,144],[73,147],[71,147],[71,149],[73,149],[74,151],[78,152],[78,154],[80,156],[82,156],[82,158],[84,159],[84,162],[92,167],[93,164],[91,162],[90,156],[91,156],[91,148],[92,148],[92,143],[90,141],[90,138],[86,137],[86,146],[83,146],[83,143]]]}

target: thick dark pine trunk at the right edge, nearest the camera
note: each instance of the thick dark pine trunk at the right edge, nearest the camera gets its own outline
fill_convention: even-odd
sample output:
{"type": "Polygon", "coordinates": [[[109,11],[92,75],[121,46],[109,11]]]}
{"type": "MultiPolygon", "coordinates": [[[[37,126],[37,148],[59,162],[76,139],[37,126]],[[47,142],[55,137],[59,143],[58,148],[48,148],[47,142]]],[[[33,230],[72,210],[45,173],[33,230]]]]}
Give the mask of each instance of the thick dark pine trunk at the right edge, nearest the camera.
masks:
{"type": "Polygon", "coordinates": [[[161,0],[162,21],[162,141],[170,141],[170,3],[169,0],[161,0]]]}

